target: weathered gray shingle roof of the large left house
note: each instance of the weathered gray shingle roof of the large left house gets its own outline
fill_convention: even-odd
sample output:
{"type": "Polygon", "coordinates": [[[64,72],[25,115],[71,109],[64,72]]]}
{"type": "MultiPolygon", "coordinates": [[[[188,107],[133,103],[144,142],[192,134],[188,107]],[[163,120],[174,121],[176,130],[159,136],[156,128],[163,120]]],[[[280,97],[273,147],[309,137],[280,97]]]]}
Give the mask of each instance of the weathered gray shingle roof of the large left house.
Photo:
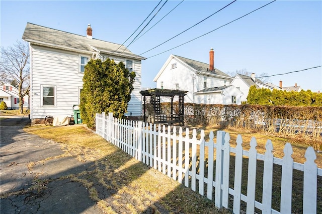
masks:
{"type": "MultiPolygon", "coordinates": [[[[86,29],[84,29],[86,31],[86,29]]],[[[79,52],[94,52],[91,46],[99,49],[102,53],[111,54],[121,45],[106,42],[98,39],[88,39],[86,36],[76,35],[64,31],[59,31],[31,23],[27,23],[22,39],[38,45],[56,47],[58,49],[74,50],[79,52]]],[[[118,49],[113,55],[127,56],[138,59],[145,59],[133,54],[124,46],[118,49]],[[122,51],[125,51],[122,53],[122,51]]]]}

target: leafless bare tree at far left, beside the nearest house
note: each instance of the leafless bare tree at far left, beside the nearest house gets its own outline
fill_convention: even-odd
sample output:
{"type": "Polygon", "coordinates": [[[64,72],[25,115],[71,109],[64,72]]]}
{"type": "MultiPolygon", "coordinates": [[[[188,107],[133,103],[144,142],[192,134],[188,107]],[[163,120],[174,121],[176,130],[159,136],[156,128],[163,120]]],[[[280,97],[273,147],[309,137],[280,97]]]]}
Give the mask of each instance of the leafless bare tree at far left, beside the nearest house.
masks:
{"type": "Polygon", "coordinates": [[[1,47],[0,79],[3,82],[16,83],[18,88],[19,111],[23,113],[23,98],[30,89],[29,45],[17,41],[13,47],[1,47]]]}

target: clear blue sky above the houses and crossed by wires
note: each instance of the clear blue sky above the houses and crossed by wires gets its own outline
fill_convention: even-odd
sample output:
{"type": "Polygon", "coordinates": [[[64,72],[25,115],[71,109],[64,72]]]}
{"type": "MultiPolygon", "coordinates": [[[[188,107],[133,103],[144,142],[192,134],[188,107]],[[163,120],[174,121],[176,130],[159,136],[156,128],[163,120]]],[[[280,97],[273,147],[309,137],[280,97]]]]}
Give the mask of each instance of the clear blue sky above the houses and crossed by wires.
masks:
{"type": "MultiPolygon", "coordinates": [[[[91,24],[93,38],[122,44],[158,2],[1,1],[1,46],[13,46],[17,40],[22,40],[27,22],[84,36],[87,25],[91,24]]],[[[186,0],[129,49],[134,54],[142,54],[230,2],[186,0]]],[[[269,2],[237,1],[170,42],[143,54],[148,59],[142,62],[142,87],[155,87],[152,80],[170,54],[209,63],[210,48],[215,51],[215,67],[226,73],[247,69],[256,74],[276,75],[322,65],[322,1],[276,1],[193,42],[149,58],[269,2]]],[[[145,30],[179,3],[168,1],[145,30]]],[[[321,67],[270,77],[270,80],[275,85],[282,80],[283,86],[297,83],[304,90],[322,92],[321,67]]]]}

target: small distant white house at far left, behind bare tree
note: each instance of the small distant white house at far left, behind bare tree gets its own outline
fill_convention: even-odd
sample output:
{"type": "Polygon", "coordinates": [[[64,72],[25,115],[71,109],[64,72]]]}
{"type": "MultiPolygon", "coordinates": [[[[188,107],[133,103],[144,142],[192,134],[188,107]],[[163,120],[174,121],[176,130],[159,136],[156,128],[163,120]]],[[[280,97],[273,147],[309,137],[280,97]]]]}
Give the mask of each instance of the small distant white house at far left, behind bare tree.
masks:
{"type": "Polygon", "coordinates": [[[29,96],[24,96],[23,100],[19,99],[19,91],[9,83],[0,87],[0,103],[4,101],[8,109],[19,109],[19,103],[23,102],[24,108],[29,108],[29,96]]]}

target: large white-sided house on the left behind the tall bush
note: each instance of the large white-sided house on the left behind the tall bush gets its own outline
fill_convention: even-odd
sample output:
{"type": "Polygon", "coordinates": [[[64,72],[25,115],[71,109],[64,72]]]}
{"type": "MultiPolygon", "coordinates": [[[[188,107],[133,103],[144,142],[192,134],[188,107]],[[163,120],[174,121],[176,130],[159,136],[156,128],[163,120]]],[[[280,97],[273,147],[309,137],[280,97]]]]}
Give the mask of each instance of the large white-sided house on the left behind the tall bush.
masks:
{"type": "MultiPolygon", "coordinates": [[[[136,73],[125,116],[141,116],[141,60],[124,46],[27,23],[23,39],[30,43],[30,118],[70,116],[79,104],[84,66],[90,59],[113,59],[136,73]]],[[[33,120],[35,120],[33,122],[33,120]]]]}

